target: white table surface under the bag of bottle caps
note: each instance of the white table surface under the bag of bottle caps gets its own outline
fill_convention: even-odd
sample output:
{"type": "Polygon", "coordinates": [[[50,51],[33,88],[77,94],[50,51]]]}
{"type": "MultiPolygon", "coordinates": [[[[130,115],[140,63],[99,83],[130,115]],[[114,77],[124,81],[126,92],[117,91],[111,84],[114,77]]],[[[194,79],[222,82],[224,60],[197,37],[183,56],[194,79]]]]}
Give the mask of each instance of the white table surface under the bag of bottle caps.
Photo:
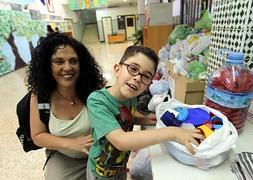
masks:
{"type": "Polygon", "coordinates": [[[235,153],[253,152],[253,124],[246,121],[236,141],[236,147],[230,150],[228,159],[208,171],[177,161],[159,144],[150,146],[149,151],[154,180],[236,180],[237,177],[232,173],[230,165],[234,161],[235,153]]]}

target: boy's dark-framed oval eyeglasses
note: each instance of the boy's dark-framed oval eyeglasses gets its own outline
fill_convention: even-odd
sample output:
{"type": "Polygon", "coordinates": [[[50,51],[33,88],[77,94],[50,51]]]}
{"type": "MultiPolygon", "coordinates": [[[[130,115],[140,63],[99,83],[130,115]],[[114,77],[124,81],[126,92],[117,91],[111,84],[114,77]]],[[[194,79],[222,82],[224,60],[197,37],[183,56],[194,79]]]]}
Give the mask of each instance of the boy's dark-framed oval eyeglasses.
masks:
{"type": "Polygon", "coordinates": [[[140,70],[135,67],[134,65],[131,64],[126,64],[126,63],[120,63],[122,65],[125,65],[127,67],[127,71],[129,72],[129,74],[131,74],[132,76],[138,76],[141,75],[141,82],[145,85],[149,85],[152,82],[152,76],[149,75],[145,75],[142,74],[140,72],[140,70]]]}

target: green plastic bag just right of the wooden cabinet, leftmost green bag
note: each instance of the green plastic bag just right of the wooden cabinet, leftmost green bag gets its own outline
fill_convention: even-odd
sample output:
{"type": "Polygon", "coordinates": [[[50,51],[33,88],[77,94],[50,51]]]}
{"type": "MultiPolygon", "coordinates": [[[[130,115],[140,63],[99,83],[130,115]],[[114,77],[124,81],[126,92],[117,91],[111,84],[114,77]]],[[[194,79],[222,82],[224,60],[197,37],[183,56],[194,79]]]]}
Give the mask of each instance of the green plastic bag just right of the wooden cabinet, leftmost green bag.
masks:
{"type": "Polygon", "coordinates": [[[170,33],[168,42],[173,45],[177,40],[186,39],[189,34],[193,33],[193,29],[183,24],[177,25],[174,30],[170,33]]]}

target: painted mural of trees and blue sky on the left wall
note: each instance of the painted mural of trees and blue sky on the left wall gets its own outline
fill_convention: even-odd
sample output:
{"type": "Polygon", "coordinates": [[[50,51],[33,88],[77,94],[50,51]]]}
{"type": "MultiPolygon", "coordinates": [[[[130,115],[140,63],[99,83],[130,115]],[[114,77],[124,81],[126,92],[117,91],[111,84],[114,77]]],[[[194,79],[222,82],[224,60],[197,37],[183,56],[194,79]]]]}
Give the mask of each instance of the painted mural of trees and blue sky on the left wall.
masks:
{"type": "Polygon", "coordinates": [[[27,65],[39,37],[46,35],[45,22],[30,13],[0,10],[0,76],[27,65]]]}

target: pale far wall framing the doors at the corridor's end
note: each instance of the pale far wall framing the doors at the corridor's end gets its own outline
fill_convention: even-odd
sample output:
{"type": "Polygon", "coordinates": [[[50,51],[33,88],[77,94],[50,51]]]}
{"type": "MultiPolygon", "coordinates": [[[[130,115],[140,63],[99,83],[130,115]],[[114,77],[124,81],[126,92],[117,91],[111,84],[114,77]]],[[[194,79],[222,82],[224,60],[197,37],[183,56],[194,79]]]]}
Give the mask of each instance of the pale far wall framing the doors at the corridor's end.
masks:
{"type": "Polygon", "coordinates": [[[118,29],[118,22],[117,16],[119,15],[136,15],[137,14],[137,6],[133,7],[117,7],[117,8],[107,8],[107,9],[97,9],[96,16],[97,16],[97,26],[98,26],[98,34],[99,40],[104,41],[104,34],[102,28],[102,17],[112,17],[112,30],[113,32],[119,33],[122,30],[118,29]]]}

